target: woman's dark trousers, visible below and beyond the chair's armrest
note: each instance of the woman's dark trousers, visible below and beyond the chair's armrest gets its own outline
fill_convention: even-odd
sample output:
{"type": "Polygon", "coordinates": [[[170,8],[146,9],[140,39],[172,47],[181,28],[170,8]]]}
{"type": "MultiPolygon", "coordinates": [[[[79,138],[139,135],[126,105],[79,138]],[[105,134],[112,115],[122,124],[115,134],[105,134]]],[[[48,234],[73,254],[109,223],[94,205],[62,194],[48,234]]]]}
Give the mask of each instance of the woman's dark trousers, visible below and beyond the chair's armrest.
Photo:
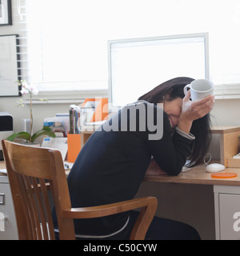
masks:
{"type": "MultiPolygon", "coordinates": [[[[131,230],[138,218],[137,211],[130,211],[130,221],[126,228],[120,233],[115,234],[112,237],[97,239],[97,240],[128,240],[130,238],[131,230]]],[[[77,238],[80,239],[80,238],[77,238]]],[[[166,218],[154,217],[150,224],[148,231],[146,232],[146,240],[200,240],[198,231],[192,226],[182,222],[166,218]]],[[[93,240],[90,238],[81,240],[93,240]]],[[[96,240],[96,239],[94,239],[96,240]]]]}

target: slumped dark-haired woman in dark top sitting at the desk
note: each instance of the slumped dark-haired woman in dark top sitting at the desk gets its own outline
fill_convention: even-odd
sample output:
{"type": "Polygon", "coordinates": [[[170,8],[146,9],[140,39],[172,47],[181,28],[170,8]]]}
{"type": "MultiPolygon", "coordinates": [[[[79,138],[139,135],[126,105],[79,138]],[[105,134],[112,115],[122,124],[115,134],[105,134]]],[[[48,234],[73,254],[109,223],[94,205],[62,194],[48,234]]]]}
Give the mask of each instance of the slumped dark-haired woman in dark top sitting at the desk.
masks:
{"type": "MultiPolygon", "coordinates": [[[[174,78],[164,82],[138,102],[123,107],[88,139],[68,176],[72,207],[134,198],[151,158],[159,169],[170,175],[180,173],[186,158],[191,165],[202,161],[209,145],[208,113],[214,97],[191,102],[190,91],[184,97],[183,87],[193,80],[174,78]],[[163,103],[164,112],[158,103],[163,103]],[[131,106],[136,110],[132,115],[131,106]]],[[[128,239],[137,216],[137,212],[130,211],[75,220],[76,237],[128,239]]],[[[198,238],[192,227],[157,217],[146,233],[146,239],[198,238]]]]}

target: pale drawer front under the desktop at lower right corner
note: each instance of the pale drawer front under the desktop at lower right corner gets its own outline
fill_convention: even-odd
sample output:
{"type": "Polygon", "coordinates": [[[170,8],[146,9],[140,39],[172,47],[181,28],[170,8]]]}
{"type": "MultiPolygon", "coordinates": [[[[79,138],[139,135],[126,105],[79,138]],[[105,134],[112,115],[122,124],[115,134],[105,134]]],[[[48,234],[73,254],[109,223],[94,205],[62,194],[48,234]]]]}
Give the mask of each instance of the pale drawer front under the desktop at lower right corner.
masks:
{"type": "Polygon", "coordinates": [[[240,239],[240,194],[218,194],[221,240],[240,239]]]}

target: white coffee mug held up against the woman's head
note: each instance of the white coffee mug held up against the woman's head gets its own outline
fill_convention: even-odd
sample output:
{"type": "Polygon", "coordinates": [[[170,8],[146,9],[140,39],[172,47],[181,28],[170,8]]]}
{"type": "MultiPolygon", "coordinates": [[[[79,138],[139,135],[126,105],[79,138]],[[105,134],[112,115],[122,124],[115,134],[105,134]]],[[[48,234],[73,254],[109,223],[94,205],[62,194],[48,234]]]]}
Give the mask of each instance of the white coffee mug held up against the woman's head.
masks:
{"type": "Polygon", "coordinates": [[[187,94],[187,89],[190,89],[191,100],[198,101],[201,98],[205,98],[208,95],[214,94],[214,84],[210,80],[197,79],[184,87],[184,94],[187,94]]]}

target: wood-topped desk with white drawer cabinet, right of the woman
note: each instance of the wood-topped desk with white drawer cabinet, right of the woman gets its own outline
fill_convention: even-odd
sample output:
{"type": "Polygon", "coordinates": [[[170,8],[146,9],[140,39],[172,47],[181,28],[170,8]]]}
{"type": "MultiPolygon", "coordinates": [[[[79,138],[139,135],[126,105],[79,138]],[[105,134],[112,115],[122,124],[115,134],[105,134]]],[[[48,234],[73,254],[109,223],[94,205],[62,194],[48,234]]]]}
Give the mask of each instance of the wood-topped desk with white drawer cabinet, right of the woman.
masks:
{"type": "MultiPolygon", "coordinates": [[[[240,168],[226,168],[221,173],[238,174],[236,178],[211,178],[205,166],[196,166],[178,176],[158,175],[146,176],[146,182],[212,185],[214,190],[214,222],[217,240],[239,240],[240,212],[240,168]]],[[[183,199],[186,200],[186,199],[183,199]]],[[[196,202],[198,203],[198,202],[196,202]]]]}

